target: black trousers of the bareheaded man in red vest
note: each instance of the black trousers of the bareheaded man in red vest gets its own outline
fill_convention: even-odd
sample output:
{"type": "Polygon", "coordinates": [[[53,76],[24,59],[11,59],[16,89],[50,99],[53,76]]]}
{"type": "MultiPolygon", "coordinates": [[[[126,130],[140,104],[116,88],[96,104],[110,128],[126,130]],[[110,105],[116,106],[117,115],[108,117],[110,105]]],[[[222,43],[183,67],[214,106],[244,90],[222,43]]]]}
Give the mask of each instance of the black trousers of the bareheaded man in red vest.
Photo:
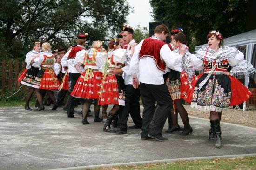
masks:
{"type": "Polygon", "coordinates": [[[147,137],[148,134],[160,135],[173,105],[167,85],[150,85],[140,82],[140,86],[144,107],[141,138],[147,137]],[[158,112],[155,112],[155,102],[159,105],[158,112]]]}

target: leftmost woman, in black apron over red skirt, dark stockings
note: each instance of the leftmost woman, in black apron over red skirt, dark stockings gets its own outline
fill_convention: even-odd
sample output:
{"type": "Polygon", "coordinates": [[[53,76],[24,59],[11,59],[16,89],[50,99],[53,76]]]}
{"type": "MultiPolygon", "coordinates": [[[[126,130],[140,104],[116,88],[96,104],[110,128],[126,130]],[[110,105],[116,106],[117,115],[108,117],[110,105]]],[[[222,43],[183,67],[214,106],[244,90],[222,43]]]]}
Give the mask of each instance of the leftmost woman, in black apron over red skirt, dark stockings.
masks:
{"type": "Polygon", "coordinates": [[[27,63],[26,69],[20,74],[18,78],[18,82],[23,85],[28,86],[28,94],[26,98],[26,110],[31,110],[29,107],[29,101],[34,93],[34,88],[32,82],[34,81],[35,76],[37,75],[39,69],[41,69],[40,65],[37,65],[34,62],[34,59],[40,56],[41,51],[41,43],[35,42],[32,51],[28,52],[26,55],[25,62],[27,63]]]}

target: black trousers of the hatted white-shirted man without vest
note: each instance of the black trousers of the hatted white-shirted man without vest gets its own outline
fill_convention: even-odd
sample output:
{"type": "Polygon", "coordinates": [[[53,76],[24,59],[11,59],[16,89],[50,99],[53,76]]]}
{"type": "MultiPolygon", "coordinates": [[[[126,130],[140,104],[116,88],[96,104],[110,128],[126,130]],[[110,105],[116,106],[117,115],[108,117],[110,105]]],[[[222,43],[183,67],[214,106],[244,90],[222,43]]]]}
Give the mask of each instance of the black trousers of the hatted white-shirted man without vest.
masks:
{"type": "Polygon", "coordinates": [[[127,131],[129,114],[137,126],[142,126],[140,89],[135,89],[133,85],[125,85],[125,106],[118,117],[117,126],[123,131],[127,131]]]}

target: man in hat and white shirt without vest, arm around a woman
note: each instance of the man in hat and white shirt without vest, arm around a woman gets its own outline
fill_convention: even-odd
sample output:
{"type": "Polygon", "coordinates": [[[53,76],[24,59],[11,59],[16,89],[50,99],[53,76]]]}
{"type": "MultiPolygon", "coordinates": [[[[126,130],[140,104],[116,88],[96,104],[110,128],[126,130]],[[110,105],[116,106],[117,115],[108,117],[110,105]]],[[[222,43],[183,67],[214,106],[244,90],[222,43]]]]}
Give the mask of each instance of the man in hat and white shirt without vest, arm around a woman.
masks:
{"type": "MultiPolygon", "coordinates": [[[[127,50],[127,58],[131,59],[132,54],[134,52],[134,46],[137,45],[135,40],[133,39],[134,30],[131,27],[124,25],[122,37],[127,46],[124,49],[127,50]],[[132,47],[131,47],[132,46],[132,47]]],[[[117,127],[113,128],[117,133],[123,134],[127,132],[127,121],[129,118],[129,114],[131,115],[133,122],[135,125],[130,126],[129,128],[133,129],[141,129],[142,126],[142,118],[141,118],[141,110],[140,110],[140,89],[135,89],[133,87],[132,75],[128,75],[129,71],[129,63],[125,64],[125,67],[111,70],[110,72],[116,74],[119,72],[124,72],[124,84],[125,84],[125,106],[122,107],[120,112],[117,127]],[[115,72],[116,71],[116,72],[115,72]]],[[[115,119],[114,119],[115,120],[115,119]]],[[[115,123],[115,122],[114,122],[115,123]]],[[[115,124],[114,124],[115,125],[115,124]]]]}

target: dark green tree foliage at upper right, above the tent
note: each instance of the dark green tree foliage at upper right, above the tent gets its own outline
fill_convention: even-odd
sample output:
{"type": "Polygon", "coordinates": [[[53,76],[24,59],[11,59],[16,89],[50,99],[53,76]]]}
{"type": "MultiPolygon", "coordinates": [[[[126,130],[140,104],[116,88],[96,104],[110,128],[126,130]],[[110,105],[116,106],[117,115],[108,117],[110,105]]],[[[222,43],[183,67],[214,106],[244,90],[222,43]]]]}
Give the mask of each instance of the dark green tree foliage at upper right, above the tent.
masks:
{"type": "MultiPolygon", "coordinates": [[[[219,30],[229,37],[255,29],[247,14],[256,13],[253,0],[150,0],[155,20],[168,21],[171,29],[182,27],[190,49],[206,43],[210,30],[219,30]]],[[[255,18],[255,17],[254,17],[255,18]]]]}

